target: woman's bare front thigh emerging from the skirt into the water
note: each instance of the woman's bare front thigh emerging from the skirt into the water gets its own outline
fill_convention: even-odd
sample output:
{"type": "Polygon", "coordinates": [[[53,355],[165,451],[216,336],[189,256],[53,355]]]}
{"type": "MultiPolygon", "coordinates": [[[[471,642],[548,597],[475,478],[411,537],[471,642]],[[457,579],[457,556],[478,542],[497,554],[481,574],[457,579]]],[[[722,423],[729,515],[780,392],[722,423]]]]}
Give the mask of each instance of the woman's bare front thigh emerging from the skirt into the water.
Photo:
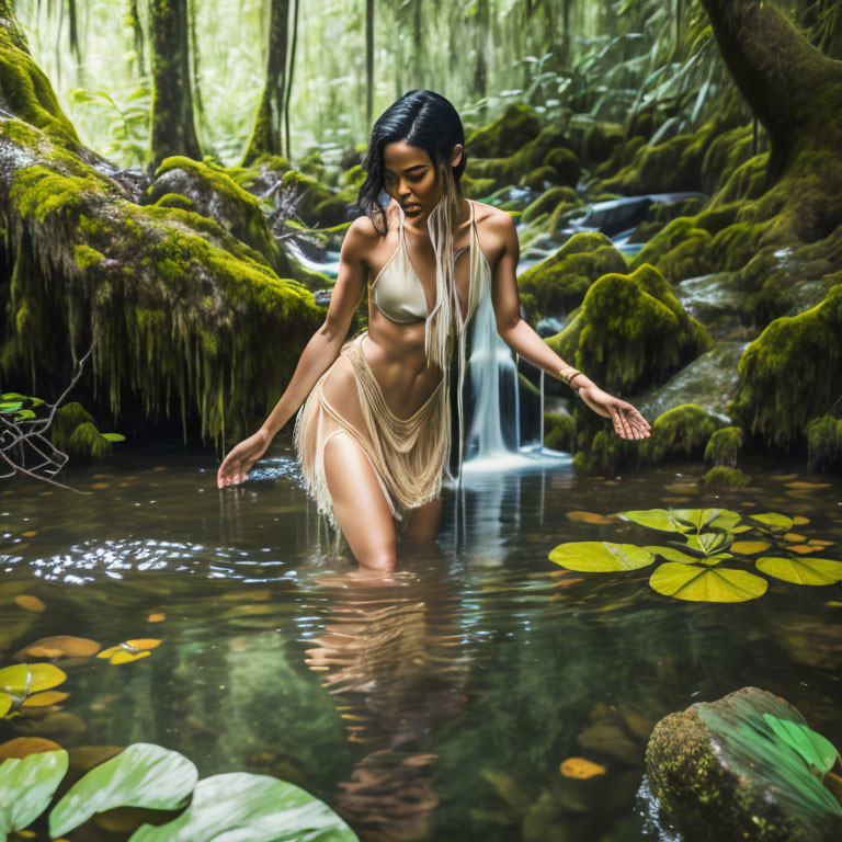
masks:
{"type": "Polygon", "coordinates": [[[360,442],[337,432],[325,445],[325,478],[333,513],[361,566],[395,569],[397,534],[389,504],[360,442]]]}

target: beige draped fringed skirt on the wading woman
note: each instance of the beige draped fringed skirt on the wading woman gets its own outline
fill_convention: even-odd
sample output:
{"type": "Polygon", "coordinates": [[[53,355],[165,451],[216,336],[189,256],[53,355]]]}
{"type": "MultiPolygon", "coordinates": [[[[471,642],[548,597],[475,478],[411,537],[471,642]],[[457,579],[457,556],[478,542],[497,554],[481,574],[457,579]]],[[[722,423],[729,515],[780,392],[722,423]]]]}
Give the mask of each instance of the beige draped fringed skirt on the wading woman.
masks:
{"type": "Polygon", "coordinates": [[[387,406],[380,385],[366,361],[361,333],[342,345],[339,357],[318,379],[295,419],[293,444],[304,475],[307,493],[315,500],[335,533],[338,549],[341,530],[333,512],[325,476],[325,447],[339,433],[349,433],[362,446],[399,532],[407,514],[441,493],[450,456],[450,407],[444,382],[409,418],[398,418],[387,406]],[[325,397],[323,385],[342,357],[351,363],[367,430],[357,430],[325,397]]]}

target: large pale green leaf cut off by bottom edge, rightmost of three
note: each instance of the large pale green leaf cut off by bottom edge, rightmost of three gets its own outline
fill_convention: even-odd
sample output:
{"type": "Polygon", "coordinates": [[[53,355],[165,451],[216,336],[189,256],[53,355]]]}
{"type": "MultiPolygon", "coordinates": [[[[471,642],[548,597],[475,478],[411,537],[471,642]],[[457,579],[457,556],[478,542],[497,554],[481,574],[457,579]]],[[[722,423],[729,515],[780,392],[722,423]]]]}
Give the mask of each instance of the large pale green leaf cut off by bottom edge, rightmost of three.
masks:
{"type": "Polygon", "coordinates": [[[326,804],[293,784],[235,772],[200,781],[178,819],[144,824],[129,842],[359,842],[326,804]]]}

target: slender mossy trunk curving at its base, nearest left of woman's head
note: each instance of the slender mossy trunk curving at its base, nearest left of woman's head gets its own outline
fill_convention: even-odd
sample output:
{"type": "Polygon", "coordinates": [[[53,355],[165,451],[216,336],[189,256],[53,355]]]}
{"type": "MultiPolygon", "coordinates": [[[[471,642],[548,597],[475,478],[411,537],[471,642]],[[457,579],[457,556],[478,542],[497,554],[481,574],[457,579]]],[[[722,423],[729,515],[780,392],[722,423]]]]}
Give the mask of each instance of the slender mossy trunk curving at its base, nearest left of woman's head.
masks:
{"type": "Polygon", "coordinates": [[[286,54],[289,41],[289,0],[271,0],[266,81],[246,147],[242,166],[248,167],[260,155],[283,155],[284,92],[286,89],[286,54]]]}

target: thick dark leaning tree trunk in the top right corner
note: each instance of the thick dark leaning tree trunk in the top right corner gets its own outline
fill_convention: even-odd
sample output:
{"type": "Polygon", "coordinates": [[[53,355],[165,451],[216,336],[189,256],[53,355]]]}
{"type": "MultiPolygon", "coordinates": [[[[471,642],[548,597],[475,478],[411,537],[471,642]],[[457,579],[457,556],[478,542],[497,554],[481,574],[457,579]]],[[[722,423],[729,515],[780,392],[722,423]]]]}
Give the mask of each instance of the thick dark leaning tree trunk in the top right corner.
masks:
{"type": "Polygon", "coordinates": [[[805,148],[842,149],[842,62],[762,0],[702,0],[725,64],[771,143],[777,178],[805,148]]]}

